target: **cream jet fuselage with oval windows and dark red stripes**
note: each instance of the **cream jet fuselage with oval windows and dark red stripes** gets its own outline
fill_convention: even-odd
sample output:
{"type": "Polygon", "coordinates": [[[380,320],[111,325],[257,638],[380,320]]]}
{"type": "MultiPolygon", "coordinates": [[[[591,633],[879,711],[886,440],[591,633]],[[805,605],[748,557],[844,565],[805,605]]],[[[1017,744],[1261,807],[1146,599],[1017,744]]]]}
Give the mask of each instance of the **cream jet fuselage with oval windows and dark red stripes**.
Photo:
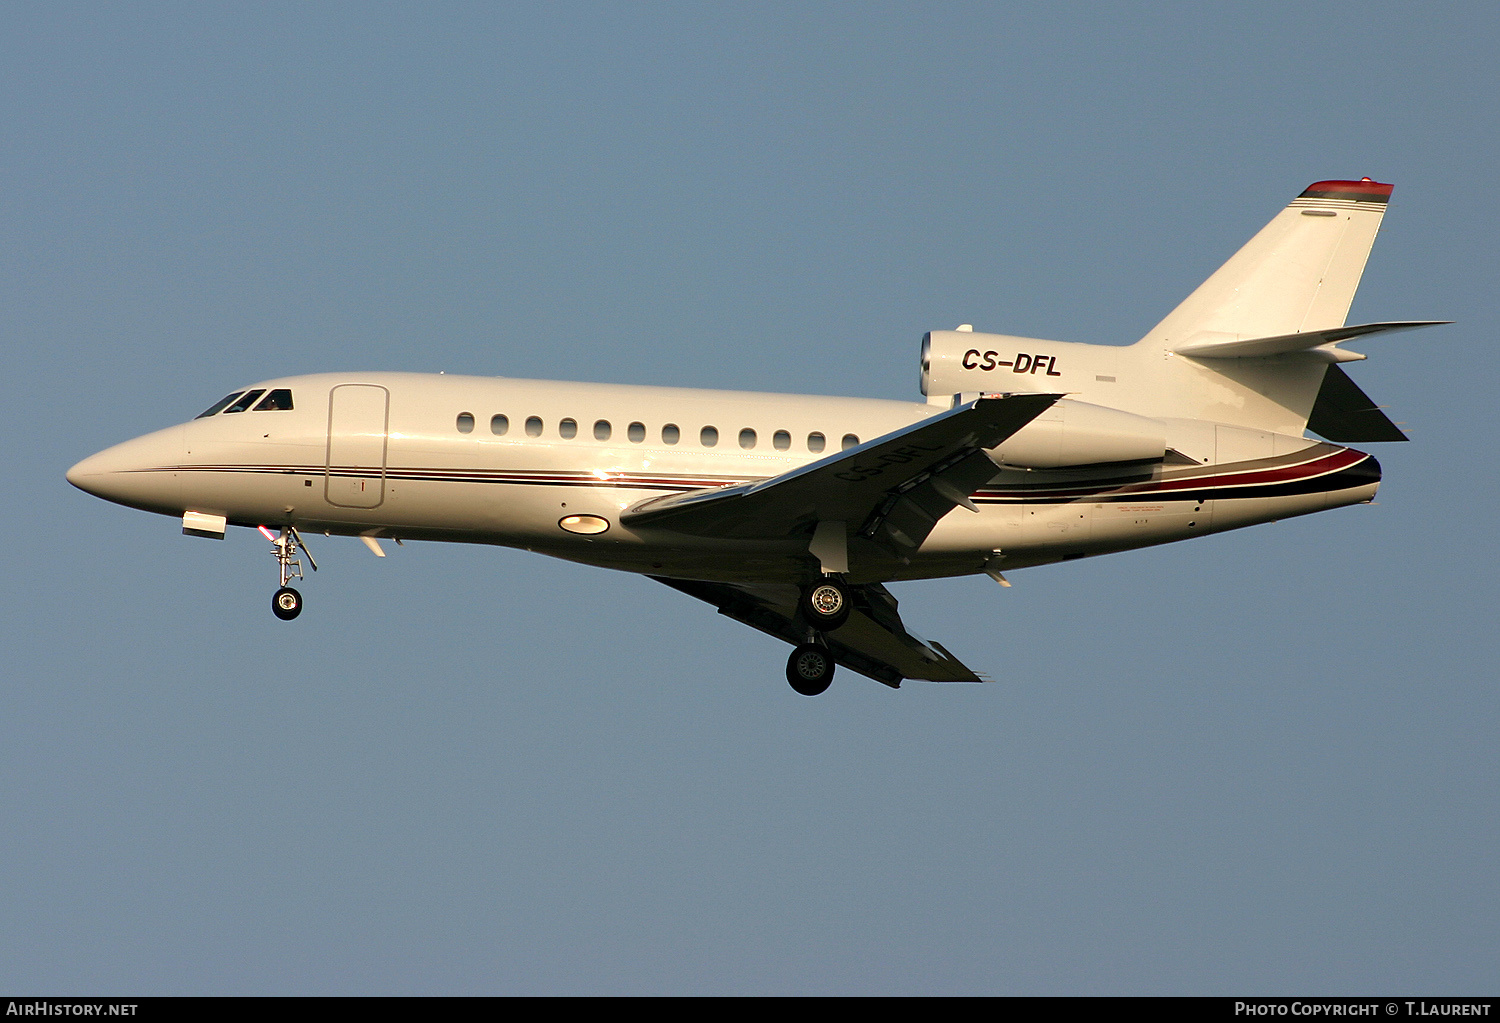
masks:
{"type": "MultiPolygon", "coordinates": [[[[786,582],[816,572],[807,536],[690,537],[632,530],[620,516],[664,494],[780,476],[944,411],[876,399],[424,374],[322,374],[255,387],[290,390],[292,408],[172,426],[80,462],[69,480],[120,504],[224,516],[231,525],[495,543],[656,576],[786,582]],[[572,435],[566,422],[574,424],[572,435]],[[608,525],[573,532],[562,525],[570,516],[608,525]]],[[[1167,543],[1368,501],[1378,484],[1374,459],[1348,448],[1232,426],[1180,429],[1168,444],[1191,458],[1062,470],[998,465],[994,480],[974,495],[978,513],[951,512],[915,556],[855,582],[1167,543]]]]}

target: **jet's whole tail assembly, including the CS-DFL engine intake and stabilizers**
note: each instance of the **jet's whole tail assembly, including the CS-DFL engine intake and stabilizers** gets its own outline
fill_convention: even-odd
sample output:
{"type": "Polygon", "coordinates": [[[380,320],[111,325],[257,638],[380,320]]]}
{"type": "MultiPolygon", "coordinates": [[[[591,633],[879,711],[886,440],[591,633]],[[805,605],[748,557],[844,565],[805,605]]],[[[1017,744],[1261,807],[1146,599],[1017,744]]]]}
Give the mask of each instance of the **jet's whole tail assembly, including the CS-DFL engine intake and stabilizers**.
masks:
{"type": "MultiPolygon", "coordinates": [[[[1166,423],[1170,447],[1202,452],[1194,460],[1227,459],[1194,444],[1190,424],[1404,441],[1341,369],[1365,358],[1344,342],[1446,322],[1346,324],[1390,190],[1371,178],[1308,186],[1130,346],[934,330],[922,344],[922,393],[948,404],[980,392],[1066,392],[1072,402],[1166,423]]],[[[1066,405],[1052,416],[1066,416],[1066,405]]]]}

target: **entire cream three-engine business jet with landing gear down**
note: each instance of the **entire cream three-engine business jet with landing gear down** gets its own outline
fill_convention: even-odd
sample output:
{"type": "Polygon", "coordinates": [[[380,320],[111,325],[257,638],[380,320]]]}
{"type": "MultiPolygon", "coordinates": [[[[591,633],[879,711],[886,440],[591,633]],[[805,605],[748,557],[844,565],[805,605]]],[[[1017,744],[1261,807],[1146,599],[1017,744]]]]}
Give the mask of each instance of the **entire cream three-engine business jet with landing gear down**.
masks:
{"type": "Polygon", "coordinates": [[[1142,340],[922,338],[926,402],[426,374],[237,387],[68,471],[222,538],[258,528],[302,612],[304,534],[524,548],[639,572],[890,687],[981,681],[885,584],[1005,572],[1368,502],[1404,441],[1340,345],[1390,186],[1318,182],[1142,340]],[[1308,432],[1323,440],[1311,438],[1308,432]]]}

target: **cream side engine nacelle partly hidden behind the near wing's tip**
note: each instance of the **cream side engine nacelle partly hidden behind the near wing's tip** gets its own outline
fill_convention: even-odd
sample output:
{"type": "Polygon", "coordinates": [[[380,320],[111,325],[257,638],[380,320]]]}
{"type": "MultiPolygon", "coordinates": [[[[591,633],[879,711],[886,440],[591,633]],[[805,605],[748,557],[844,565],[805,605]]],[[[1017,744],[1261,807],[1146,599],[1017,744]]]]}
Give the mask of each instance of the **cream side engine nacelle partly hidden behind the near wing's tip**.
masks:
{"type": "Polygon", "coordinates": [[[1028,470],[1100,462],[1160,462],[1166,453],[1164,423],[1068,398],[988,452],[1000,465],[1028,470]]]}

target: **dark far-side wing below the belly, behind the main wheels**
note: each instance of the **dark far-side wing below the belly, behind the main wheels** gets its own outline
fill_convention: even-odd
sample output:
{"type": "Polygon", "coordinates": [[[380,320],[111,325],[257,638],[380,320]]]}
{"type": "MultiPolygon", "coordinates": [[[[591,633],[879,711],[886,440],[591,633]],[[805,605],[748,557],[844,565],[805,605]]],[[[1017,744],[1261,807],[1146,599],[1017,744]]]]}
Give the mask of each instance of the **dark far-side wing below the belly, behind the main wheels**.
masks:
{"type": "MultiPolygon", "coordinates": [[[[798,624],[796,586],[651,578],[690,597],[706,600],[718,608],[720,615],[759,628],[794,646],[807,639],[807,627],[798,624]]],[[[906,632],[890,590],[879,584],[849,590],[854,603],[849,620],[824,634],[836,662],[891,688],[898,688],[903,678],[928,682],[986,681],[940,644],[906,632]]]]}

